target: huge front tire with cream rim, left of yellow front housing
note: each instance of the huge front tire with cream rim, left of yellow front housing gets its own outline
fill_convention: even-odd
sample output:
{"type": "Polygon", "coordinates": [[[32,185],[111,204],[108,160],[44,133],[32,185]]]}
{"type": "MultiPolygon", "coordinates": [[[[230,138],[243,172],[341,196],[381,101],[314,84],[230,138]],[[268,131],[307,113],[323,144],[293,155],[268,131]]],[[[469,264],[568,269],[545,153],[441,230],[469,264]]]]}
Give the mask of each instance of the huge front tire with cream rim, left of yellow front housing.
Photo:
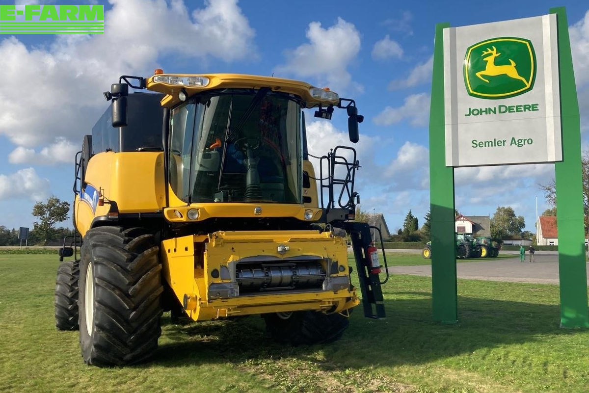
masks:
{"type": "Polygon", "coordinates": [[[90,229],[80,261],[80,345],[87,364],[144,361],[161,334],[161,265],[141,229],[90,229]]]}

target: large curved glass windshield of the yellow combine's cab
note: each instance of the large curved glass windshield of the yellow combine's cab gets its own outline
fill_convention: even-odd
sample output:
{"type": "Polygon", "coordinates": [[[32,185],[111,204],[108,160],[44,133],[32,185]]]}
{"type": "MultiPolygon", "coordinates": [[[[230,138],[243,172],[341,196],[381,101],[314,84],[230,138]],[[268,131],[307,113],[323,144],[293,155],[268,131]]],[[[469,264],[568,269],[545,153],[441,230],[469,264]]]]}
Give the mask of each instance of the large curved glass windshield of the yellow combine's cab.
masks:
{"type": "Polygon", "coordinates": [[[170,186],[184,202],[302,202],[301,106],[269,89],[198,95],[171,112],[170,186]]]}

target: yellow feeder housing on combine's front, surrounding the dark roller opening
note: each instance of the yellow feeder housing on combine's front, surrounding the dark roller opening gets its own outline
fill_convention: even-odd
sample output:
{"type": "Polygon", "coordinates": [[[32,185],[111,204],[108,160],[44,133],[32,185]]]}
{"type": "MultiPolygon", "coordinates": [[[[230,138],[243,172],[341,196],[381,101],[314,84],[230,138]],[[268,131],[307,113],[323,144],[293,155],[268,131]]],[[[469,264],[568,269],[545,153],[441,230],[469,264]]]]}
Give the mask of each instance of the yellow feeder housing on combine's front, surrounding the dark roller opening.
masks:
{"type": "MultiPolygon", "coordinates": [[[[258,292],[233,297],[210,293],[211,284],[235,282],[237,262],[243,258],[319,257],[336,262],[340,268],[329,277],[348,278],[348,251],[343,238],[317,231],[239,231],[190,235],[161,242],[163,277],[176,297],[184,303],[188,316],[206,321],[232,315],[262,314],[299,310],[343,312],[359,304],[355,289],[335,291],[258,292]],[[279,245],[289,247],[280,254],[279,245]],[[226,269],[229,276],[214,278],[213,271],[226,269]]],[[[327,263],[327,262],[326,262],[327,263]]],[[[327,267],[324,267],[329,272],[327,267]]],[[[347,281],[349,282],[349,281],[347,281]]]]}

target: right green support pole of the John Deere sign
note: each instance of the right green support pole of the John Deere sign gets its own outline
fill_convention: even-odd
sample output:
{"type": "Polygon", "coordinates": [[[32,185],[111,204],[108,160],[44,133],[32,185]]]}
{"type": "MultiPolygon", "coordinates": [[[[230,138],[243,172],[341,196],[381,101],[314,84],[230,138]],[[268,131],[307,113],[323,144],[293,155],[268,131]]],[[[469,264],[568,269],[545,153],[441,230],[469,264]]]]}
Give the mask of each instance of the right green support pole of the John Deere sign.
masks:
{"type": "Polygon", "coordinates": [[[558,65],[564,158],[562,162],[555,163],[560,324],[564,328],[587,328],[589,315],[587,314],[579,105],[568,38],[567,14],[564,7],[551,8],[550,13],[557,14],[558,18],[560,52],[558,65]]]}

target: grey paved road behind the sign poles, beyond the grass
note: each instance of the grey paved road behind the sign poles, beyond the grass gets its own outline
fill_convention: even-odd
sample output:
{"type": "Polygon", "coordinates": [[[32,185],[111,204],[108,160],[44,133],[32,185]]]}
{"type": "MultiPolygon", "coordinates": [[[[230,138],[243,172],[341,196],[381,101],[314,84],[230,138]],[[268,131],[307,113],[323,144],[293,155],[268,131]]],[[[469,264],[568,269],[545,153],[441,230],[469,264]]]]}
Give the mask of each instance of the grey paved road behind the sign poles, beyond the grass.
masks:
{"type": "MultiPolygon", "coordinates": [[[[507,254],[507,252],[505,252],[507,254]]],[[[540,284],[558,284],[557,252],[537,252],[535,262],[519,262],[519,255],[509,259],[484,259],[481,262],[459,262],[456,264],[458,278],[482,279],[488,281],[537,282],[540,284]]],[[[587,265],[589,271],[589,264],[587,265]]],[[[389,272],[398,274],[432,275],[431,265],[397,266],[389,268],[389,272]]],[[[587,280],[589,283],[589,279],[587,280]]]]}

